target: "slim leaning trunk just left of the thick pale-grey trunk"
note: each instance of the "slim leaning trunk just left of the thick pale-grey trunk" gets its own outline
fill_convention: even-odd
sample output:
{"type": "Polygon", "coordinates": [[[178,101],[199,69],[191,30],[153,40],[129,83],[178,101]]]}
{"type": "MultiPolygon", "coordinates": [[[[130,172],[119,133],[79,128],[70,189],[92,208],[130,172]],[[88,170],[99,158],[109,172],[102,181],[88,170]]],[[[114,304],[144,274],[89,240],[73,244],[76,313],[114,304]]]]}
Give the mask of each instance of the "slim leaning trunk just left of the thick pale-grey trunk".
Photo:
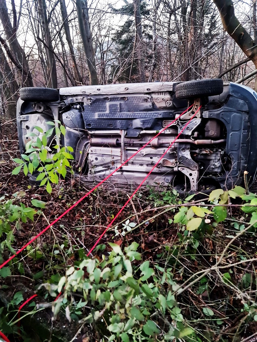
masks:
{"type": "Polygon", "coordinates": [[[68,13],[67,13],[65,0],[59,0],[59,3],[60,3],[60,7],[61,7],[61,15],[62,15],[62,22],[63,22],[63,28],[64,28],[64,32],[65,32],[65,37],[66,37],[66,41],[68,43],[68,47],[69,47],[72,62],[73,62],[75,79],[77,82],[82,83],[82,77],[81,77],[81,74],[79,73],[79,70],[78,70],[78,65],[77,65],[77,61],[76,61],[76,57],[75,57],[75,53],[74,53],[74,49],[73,49],[73,44],[72,44],[72,40],[71,40],[71,32],[70,32],[70,27],[68,24],[68,13]]]}

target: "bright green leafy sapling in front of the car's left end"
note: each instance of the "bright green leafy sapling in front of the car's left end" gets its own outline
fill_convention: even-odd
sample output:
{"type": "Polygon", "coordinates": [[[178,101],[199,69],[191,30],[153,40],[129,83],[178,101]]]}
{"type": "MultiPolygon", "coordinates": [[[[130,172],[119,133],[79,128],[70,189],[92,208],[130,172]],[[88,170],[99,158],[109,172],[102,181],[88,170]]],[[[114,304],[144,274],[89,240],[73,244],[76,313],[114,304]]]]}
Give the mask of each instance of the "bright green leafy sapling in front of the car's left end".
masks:
{"type": "Polygon", "coordinates": [[[25,146],[26,154],[22,154],[22,158],[14,158],[13,160],[19,164],[12,174],[18,174],[23,168],[25,176],[28,174],[39,173],[36,180],[41,181],[41,185],[46,184],[46,190],[50,194],[53,184],[58,184],[59,176],[65,178],[67,168],[72,172],[71,160],[74,159],[70,152],[73,148],[70,146],[61,147],[56,142],[60,141],[61,134],[66,134],[65,127],[57,121],[59,127],[54,122],[48,121],[47,124],[54,126],[53,128],[44,130],[41,127],[35,126],[34,130],[38,133],[30,132],[26,136],[30,140],[25,146]],[[53,136],[53,132],[55,135],[53,136]],[[49,143],[48,138],[52,137],[49,143]]]}

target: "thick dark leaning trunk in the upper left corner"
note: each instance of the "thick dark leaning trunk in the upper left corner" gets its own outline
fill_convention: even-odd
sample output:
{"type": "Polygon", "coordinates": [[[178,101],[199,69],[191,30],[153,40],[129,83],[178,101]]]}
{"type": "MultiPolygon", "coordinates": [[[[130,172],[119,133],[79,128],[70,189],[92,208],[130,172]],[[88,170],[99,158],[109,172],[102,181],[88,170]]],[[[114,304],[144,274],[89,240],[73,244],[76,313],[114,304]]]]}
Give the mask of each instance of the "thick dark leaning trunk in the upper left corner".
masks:
{"type": "MultiPolygon", "coordinates": [[[[28,62],[26,59],[25,52],[23,51],[21,45],[19,44],[16,36],[16,10],[15,6],[13,6],[14,11],[14,24],[16,25],[14,28],[10,21],[10,15],[7,10],[7,5],[5,0],[0,0],[0,20],[3,26],[3,30],[5,36],[8,40],[8,45],[10,47],[10,54],[12,55],[15,63],[14,65],[17,67],[17,71],[19,72],[21,86],[33,87],[32,76],[29,70],[28,62]]],[[[2,42],[1,42],[2,43],[2,42]]],[[[3,44],[3,43],[2,43],[3,44]]],[[[4,47],[7,50],[7,44],[4,47]]]]}

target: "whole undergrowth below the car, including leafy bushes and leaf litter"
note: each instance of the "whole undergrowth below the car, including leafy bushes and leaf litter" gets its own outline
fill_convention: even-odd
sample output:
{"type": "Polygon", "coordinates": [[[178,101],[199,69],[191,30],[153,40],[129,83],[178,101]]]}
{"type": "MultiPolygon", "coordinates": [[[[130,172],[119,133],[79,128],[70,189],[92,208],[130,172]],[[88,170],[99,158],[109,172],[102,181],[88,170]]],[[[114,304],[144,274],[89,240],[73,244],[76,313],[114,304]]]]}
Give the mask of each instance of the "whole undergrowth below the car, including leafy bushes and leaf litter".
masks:
{"type": "MultiPolygon", "coordinates": [[[[40,158],[39,145],[28,153],[40,158]]],[[[34,161],[30,171],[43,168],[39,179],[53,184],[51,195],[24,185],[12,195],[2,183],[0,262],[87,190],[63,181],[70,158],[63,152],[49,170],[47,159],[25,157],[34,161]]],[[[14,161],[15,181],[29,170],[14,161]]],[[[0,331],[26,342],[255,341],[257,195],[236,186],[182,200],[175,190],[148,187],[87,257],[126,200],[127,191],[97,189],[1,268],[0,331]]]]}

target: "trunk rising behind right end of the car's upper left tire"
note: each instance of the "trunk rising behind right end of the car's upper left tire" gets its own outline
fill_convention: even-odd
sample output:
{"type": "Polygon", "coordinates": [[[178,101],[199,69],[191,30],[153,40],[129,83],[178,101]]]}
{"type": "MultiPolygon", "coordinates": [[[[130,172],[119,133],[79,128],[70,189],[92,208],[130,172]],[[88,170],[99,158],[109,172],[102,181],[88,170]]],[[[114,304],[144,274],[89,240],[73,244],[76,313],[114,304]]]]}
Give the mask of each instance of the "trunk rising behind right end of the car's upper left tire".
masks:
{"type": "Polygon", "coordinates": [[[54,59],[53,54],[53,46],[52,46],[52,39],[49,31],[49,23],[47,18],[47,12],[46,12],[46,1],[45,0],[39,0],[39,15],[42,23],[42,27],[44,28],[44,35],[43,39],[45,41],[45,50],[47,55],[47,62],[48,62],[48,70],[49,70],[49,76],[50,76],[50,82],[49,85],[51,88],[58,88],[58,82],[57,82],[57,71],[56,71],[56,62],[54,59]]]}

